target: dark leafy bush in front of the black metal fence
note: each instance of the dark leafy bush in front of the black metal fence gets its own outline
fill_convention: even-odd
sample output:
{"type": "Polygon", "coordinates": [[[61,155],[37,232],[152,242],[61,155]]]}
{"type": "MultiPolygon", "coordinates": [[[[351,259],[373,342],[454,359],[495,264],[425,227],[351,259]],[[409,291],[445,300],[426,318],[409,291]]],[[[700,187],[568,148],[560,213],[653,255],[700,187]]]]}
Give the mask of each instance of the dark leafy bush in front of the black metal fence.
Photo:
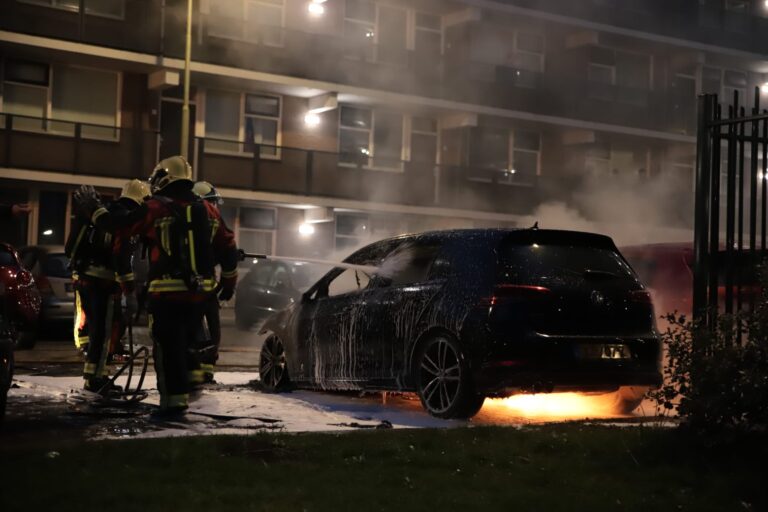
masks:
{"type": "Polygon", "coordinates": [[[713,329],[667,315],[664,385],[651,392],[658,407],[697,430],[768,425],[766,299],[754,312],[720,316],[713,329]]]}

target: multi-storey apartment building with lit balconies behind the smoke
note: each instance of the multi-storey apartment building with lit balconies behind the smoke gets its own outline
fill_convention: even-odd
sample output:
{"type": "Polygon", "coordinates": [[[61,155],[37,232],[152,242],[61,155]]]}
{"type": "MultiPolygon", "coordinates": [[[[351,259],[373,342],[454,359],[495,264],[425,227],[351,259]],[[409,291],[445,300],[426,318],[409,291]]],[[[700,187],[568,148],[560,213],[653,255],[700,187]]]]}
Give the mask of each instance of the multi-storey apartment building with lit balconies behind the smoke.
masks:
{"type": "MultiPolygon", "coordinates": [[[[2,227],[11,242],[61,245],[77,186],[114,194],[178,154],[186,9],[0,0],[0,201],[34,206],[2,227]]],[[[684,228],[696,96],[751,105],[766,15],[748,0],[196,0],[190,161],[254,252],[526,225],[543,204],[578,210],[586,184],[642,196],[654,180],[684,228]]]]}

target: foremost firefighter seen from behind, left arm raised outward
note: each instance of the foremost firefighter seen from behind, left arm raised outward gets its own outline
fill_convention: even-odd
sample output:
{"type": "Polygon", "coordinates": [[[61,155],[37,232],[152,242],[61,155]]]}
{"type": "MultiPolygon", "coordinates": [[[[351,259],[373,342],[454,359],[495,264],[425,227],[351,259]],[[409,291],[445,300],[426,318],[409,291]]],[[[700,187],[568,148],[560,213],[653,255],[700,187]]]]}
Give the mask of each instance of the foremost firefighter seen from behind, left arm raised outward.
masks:
{"type": "MultiPolygon", "coordinates": [[[[148,312],[159,415],[176,416],[188,407],[188,348],[194,346],[203,306],[216,289],[215,255],[222,268],[219,298],[229,300],[237,281],[238,254],[219,212],[192,192],[192,167],[183,157],[162,160],[149,181],[154,195],[127,223],[100,206],[92,187],[81,187],[78,201],[93,211],[97,225],[119,230],[116,253],[124,240],[137,235],[149,245],[148,312]]],[[[124,288],[124,293],[131,300],[131,290],[124,288]]]]}

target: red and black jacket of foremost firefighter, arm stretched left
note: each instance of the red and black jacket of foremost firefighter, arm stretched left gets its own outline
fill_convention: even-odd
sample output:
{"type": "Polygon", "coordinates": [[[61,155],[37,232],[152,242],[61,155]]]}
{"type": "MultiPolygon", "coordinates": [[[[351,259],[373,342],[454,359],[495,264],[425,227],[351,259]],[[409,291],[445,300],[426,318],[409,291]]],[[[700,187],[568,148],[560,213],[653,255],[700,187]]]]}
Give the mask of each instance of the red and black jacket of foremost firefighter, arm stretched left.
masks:
{"type": "Polygon", "coordinates": [[[218,210],[191,191],[187,182],[172,183],[126,217],[97,209],[91,219],[116,232],[114,253],[140,235],[149,246],[149,294],[200,302],[216,289],[214,267],[221,264],[222,286],[237,280],[237,247],[218,210]]]}

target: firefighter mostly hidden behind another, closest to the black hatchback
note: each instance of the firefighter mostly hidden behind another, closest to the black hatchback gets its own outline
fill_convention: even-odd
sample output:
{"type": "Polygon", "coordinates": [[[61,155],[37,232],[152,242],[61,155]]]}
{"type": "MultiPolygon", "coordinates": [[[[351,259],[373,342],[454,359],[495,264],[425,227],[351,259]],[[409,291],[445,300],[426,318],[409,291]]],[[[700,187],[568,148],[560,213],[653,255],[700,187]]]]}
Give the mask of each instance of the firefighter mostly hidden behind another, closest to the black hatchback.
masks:
{"type": "MultiPolygon", "coordinates": [[[[195,186],[192,187],[192,191],[200,196],[205,201],[208,201],[214,208],[218,210],[219,206],[224,204],[224,200],[221,194],[216,190],[216,187],[208,183],[207,181],[198,181],[195,186]]],[[[224,223],[224,219],[221,219],[221,225],[230,233],[232,232],[229,227],[224,223]]],[[[218,260],[216,263],[220,263],[218,260]]],[[[214,295],[210,300],[205,303],[205,310],[203,311],[205,322],[201,333],[198,335],[199,345],[197,347],[198,358],[200,362],[200,371],[202,372],[202,383],[214,382],[213,374],[216,365],[216,361],[219,359],[219,345],[221,344],[221,319],[219,316],[219,301],[214,295]]],[[[194,376],[197,381],[198,376],[194,376]]]]}

